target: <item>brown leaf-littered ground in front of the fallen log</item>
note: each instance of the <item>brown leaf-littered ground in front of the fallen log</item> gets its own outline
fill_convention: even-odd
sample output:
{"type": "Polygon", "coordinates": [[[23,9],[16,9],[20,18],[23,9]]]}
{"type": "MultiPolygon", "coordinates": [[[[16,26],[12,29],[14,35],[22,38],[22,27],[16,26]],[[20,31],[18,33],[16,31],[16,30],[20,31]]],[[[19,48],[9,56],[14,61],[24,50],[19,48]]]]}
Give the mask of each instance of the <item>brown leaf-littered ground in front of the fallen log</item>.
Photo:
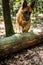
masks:
{"type": "Polygon", "coordinates": [[[0,65],[43,65],[43,43],[10,54],[0,65]]]}

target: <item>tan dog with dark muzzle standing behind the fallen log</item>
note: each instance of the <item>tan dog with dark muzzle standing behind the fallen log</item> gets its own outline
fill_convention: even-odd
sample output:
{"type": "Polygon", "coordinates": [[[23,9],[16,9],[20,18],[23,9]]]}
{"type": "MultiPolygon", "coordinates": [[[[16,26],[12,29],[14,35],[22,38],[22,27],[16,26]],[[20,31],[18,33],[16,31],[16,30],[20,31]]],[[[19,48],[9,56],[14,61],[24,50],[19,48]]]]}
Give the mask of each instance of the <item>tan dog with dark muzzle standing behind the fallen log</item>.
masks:
{"type": "Polygon", "coordinates": [[[16,16],[16,33],[28,32],[31,26],[30,18],[34,5],[35,1],[28,5],[27,1],[24,0],[16,16]]]}

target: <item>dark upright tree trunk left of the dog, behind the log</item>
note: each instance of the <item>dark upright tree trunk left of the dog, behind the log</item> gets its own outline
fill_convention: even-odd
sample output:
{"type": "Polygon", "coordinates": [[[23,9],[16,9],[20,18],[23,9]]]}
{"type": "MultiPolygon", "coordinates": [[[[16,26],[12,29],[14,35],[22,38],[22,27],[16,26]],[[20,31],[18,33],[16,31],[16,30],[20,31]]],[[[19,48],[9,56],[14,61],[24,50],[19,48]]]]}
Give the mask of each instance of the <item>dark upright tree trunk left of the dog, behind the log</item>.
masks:
{"type": "Polygon", "coordinates": [[[11,16],[10,16],[9,0],[2,0],[2,6],[3,6],[6,36],[8,37],[14,34],[14,30],[11,22],[11,16]]]}

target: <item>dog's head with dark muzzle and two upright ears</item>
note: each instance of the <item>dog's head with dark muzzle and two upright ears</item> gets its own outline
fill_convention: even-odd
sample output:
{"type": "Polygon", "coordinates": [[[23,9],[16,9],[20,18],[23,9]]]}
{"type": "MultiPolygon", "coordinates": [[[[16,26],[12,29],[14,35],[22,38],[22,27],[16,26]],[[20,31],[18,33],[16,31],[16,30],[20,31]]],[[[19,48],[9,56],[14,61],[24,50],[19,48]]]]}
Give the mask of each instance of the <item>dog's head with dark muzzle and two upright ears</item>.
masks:
{"type": "Polygon", "coordinates": [[[35,5],[35,1],[33,1],[30,5],[28,5],[27,1],[24,0],[22,4],[22,15],[25,21],[30,20],[30,15],[32,13],[34,5],[35,5]]]}

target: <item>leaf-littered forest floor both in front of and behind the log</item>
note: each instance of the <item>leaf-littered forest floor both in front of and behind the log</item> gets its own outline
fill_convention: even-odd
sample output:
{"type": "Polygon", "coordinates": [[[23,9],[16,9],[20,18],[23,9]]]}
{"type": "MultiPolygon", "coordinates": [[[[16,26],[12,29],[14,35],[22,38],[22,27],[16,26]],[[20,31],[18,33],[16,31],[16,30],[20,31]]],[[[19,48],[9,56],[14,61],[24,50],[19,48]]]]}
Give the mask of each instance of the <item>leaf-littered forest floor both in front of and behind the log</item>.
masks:
{"type": "MultiPolygon", "coordinates": [[[[0,38],[5,35],[5,27],[0,22],[0,38]]],[[[30,30],[35,34],[43,34],[43,22],[32,25],[30,30]],[[38,32],[37,32],[38,31],[38,32]]],[[[10,54],[7,58],[0,61],[0,65],[43,65],[43,43],[21,50],[17,53],[10,54]]]]}

